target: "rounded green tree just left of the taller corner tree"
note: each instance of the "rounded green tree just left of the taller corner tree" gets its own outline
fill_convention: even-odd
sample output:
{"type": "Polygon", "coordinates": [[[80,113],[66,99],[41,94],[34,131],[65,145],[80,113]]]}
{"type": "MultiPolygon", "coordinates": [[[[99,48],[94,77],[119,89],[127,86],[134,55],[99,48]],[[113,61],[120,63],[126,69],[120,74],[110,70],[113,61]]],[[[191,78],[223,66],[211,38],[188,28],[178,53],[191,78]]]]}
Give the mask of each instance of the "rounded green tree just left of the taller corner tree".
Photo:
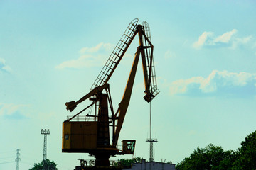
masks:
{"type": "Polygon", "coordinates": [[[176,165],[178,170],[215,170],[215,169],[231,169],[233,157],[232,151],[224,151],[222,147],[213,144],[200,149],[199,147],[193,151],[190,157],[183,159],[176,165]]]}

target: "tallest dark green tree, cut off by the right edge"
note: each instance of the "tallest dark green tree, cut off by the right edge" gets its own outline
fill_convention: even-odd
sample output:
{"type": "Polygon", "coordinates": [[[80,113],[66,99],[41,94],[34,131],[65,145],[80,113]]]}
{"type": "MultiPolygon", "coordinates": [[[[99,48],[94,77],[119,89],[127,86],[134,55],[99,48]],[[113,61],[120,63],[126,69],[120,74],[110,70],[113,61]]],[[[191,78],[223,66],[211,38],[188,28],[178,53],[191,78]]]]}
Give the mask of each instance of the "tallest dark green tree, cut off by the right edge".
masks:
{"type": "Polygon", "coordinates": [[[234,170],[256,169],[256,130],[245,137],[238,149],[238,158],[234,163],[234,170]]]}

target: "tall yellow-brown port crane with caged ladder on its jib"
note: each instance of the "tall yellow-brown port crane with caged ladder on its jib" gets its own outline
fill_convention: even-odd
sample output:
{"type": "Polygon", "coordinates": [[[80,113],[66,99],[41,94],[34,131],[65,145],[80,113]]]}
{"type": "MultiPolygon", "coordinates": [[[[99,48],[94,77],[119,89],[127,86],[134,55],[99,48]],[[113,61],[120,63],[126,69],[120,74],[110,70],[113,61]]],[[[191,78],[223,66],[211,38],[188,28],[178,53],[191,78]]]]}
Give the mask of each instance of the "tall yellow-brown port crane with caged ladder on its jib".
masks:
{"type": "Polygon", "coordinates": [[[97,169],[110,169],[109,158],[111,156],[134,154],[135,140],[122,140],[122,149],[117,148],[117,141],[129,106],[139,56],[142,59],[144,73],[144,100],[151,102],[159,94],[153,60],[154,46],[151,43],[149,24],[144,21],[140,25],[137,24],[138,21],[136,18],[129,23],[122,38],[117,43],[117,46],[114,47],[100,74],[92,84],[90,92],[78,101],[65,103],[67,110],[71,112],[82,101],[87,99],[92,101],[89,106],[79,113],[69,116],[63,122],[62,152],[89,153],[95,157],[94,168],[97,169]],[[137,47],[137,52],[135,53],[122,100],[119,103],[117,111],[114,111],[108,81],[137,34],[139,37],[139,47],[137,47]],[[95,114],[86,115],[85,117],[91,118],[92,120],[78,120],[80,113],[91,106],[95,106],[95,114]],[[110,115],[109,111],[111,113],[110,115]],[[110,141],[110,128],[112,128],[112,141],[110,141]]]}

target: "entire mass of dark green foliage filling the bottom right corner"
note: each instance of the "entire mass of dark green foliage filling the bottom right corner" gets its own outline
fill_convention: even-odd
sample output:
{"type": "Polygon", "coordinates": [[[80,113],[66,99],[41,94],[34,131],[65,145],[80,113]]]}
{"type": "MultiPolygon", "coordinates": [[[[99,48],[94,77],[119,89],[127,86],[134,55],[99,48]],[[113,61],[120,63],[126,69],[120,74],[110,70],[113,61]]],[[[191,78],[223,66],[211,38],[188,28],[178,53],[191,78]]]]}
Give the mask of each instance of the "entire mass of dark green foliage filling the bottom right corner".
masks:
{"type": "Polygon", "coordinates": [[[242,141],[238,151],[208,145],[193,151],[176,165],[177,170],[256,170],[256,130],[242,141]]]}

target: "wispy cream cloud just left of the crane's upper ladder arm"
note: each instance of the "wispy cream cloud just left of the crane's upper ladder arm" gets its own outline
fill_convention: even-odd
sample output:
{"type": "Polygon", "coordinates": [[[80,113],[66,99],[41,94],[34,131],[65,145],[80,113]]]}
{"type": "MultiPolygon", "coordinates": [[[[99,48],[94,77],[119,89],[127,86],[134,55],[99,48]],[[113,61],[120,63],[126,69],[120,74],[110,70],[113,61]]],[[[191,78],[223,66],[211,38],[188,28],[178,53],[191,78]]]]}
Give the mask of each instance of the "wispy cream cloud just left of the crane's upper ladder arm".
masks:
{"type": "Polygon", "coordinates": [[[114,45],[110,43],[103,43],[95,47],[83,47],[80,49],[80,57],[75,60],[68,60],[58,64],[56,69],[74,68],[81,69],[84,67],[94,67],[105,64],[110,51],[114,49],[114,45]]]}

